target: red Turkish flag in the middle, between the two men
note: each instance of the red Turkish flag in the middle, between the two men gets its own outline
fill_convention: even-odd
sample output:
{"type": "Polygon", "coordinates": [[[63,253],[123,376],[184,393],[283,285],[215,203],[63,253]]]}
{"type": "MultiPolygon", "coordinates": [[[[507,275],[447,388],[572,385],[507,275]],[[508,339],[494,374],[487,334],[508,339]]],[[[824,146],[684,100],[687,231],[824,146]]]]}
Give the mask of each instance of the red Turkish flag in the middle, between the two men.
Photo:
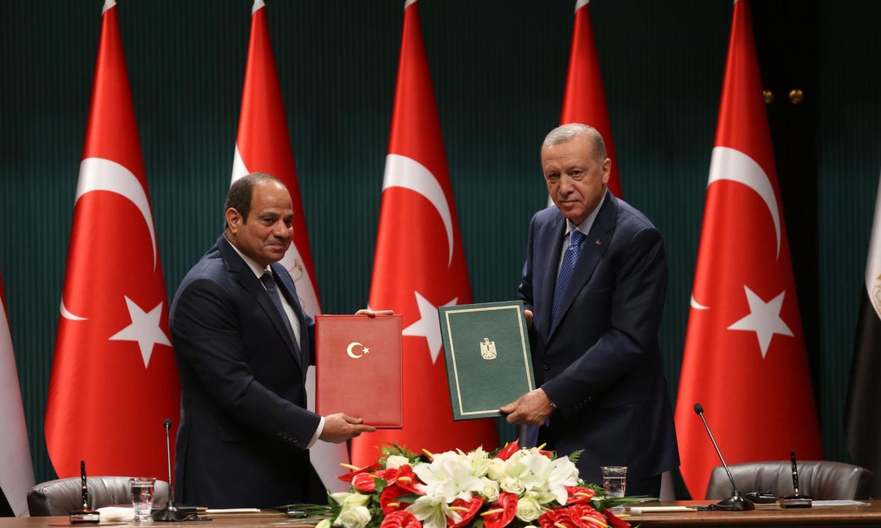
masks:
{"type": "Polygon", "coordinates": [[[387,443],[441,452],[499,442],[493,420],[453,422],[437,307],[468,304],[471,291],[418,4],[404,6],[369,303],[403,315],[403,429],[354,438],[356,466],[387,443]]]}

